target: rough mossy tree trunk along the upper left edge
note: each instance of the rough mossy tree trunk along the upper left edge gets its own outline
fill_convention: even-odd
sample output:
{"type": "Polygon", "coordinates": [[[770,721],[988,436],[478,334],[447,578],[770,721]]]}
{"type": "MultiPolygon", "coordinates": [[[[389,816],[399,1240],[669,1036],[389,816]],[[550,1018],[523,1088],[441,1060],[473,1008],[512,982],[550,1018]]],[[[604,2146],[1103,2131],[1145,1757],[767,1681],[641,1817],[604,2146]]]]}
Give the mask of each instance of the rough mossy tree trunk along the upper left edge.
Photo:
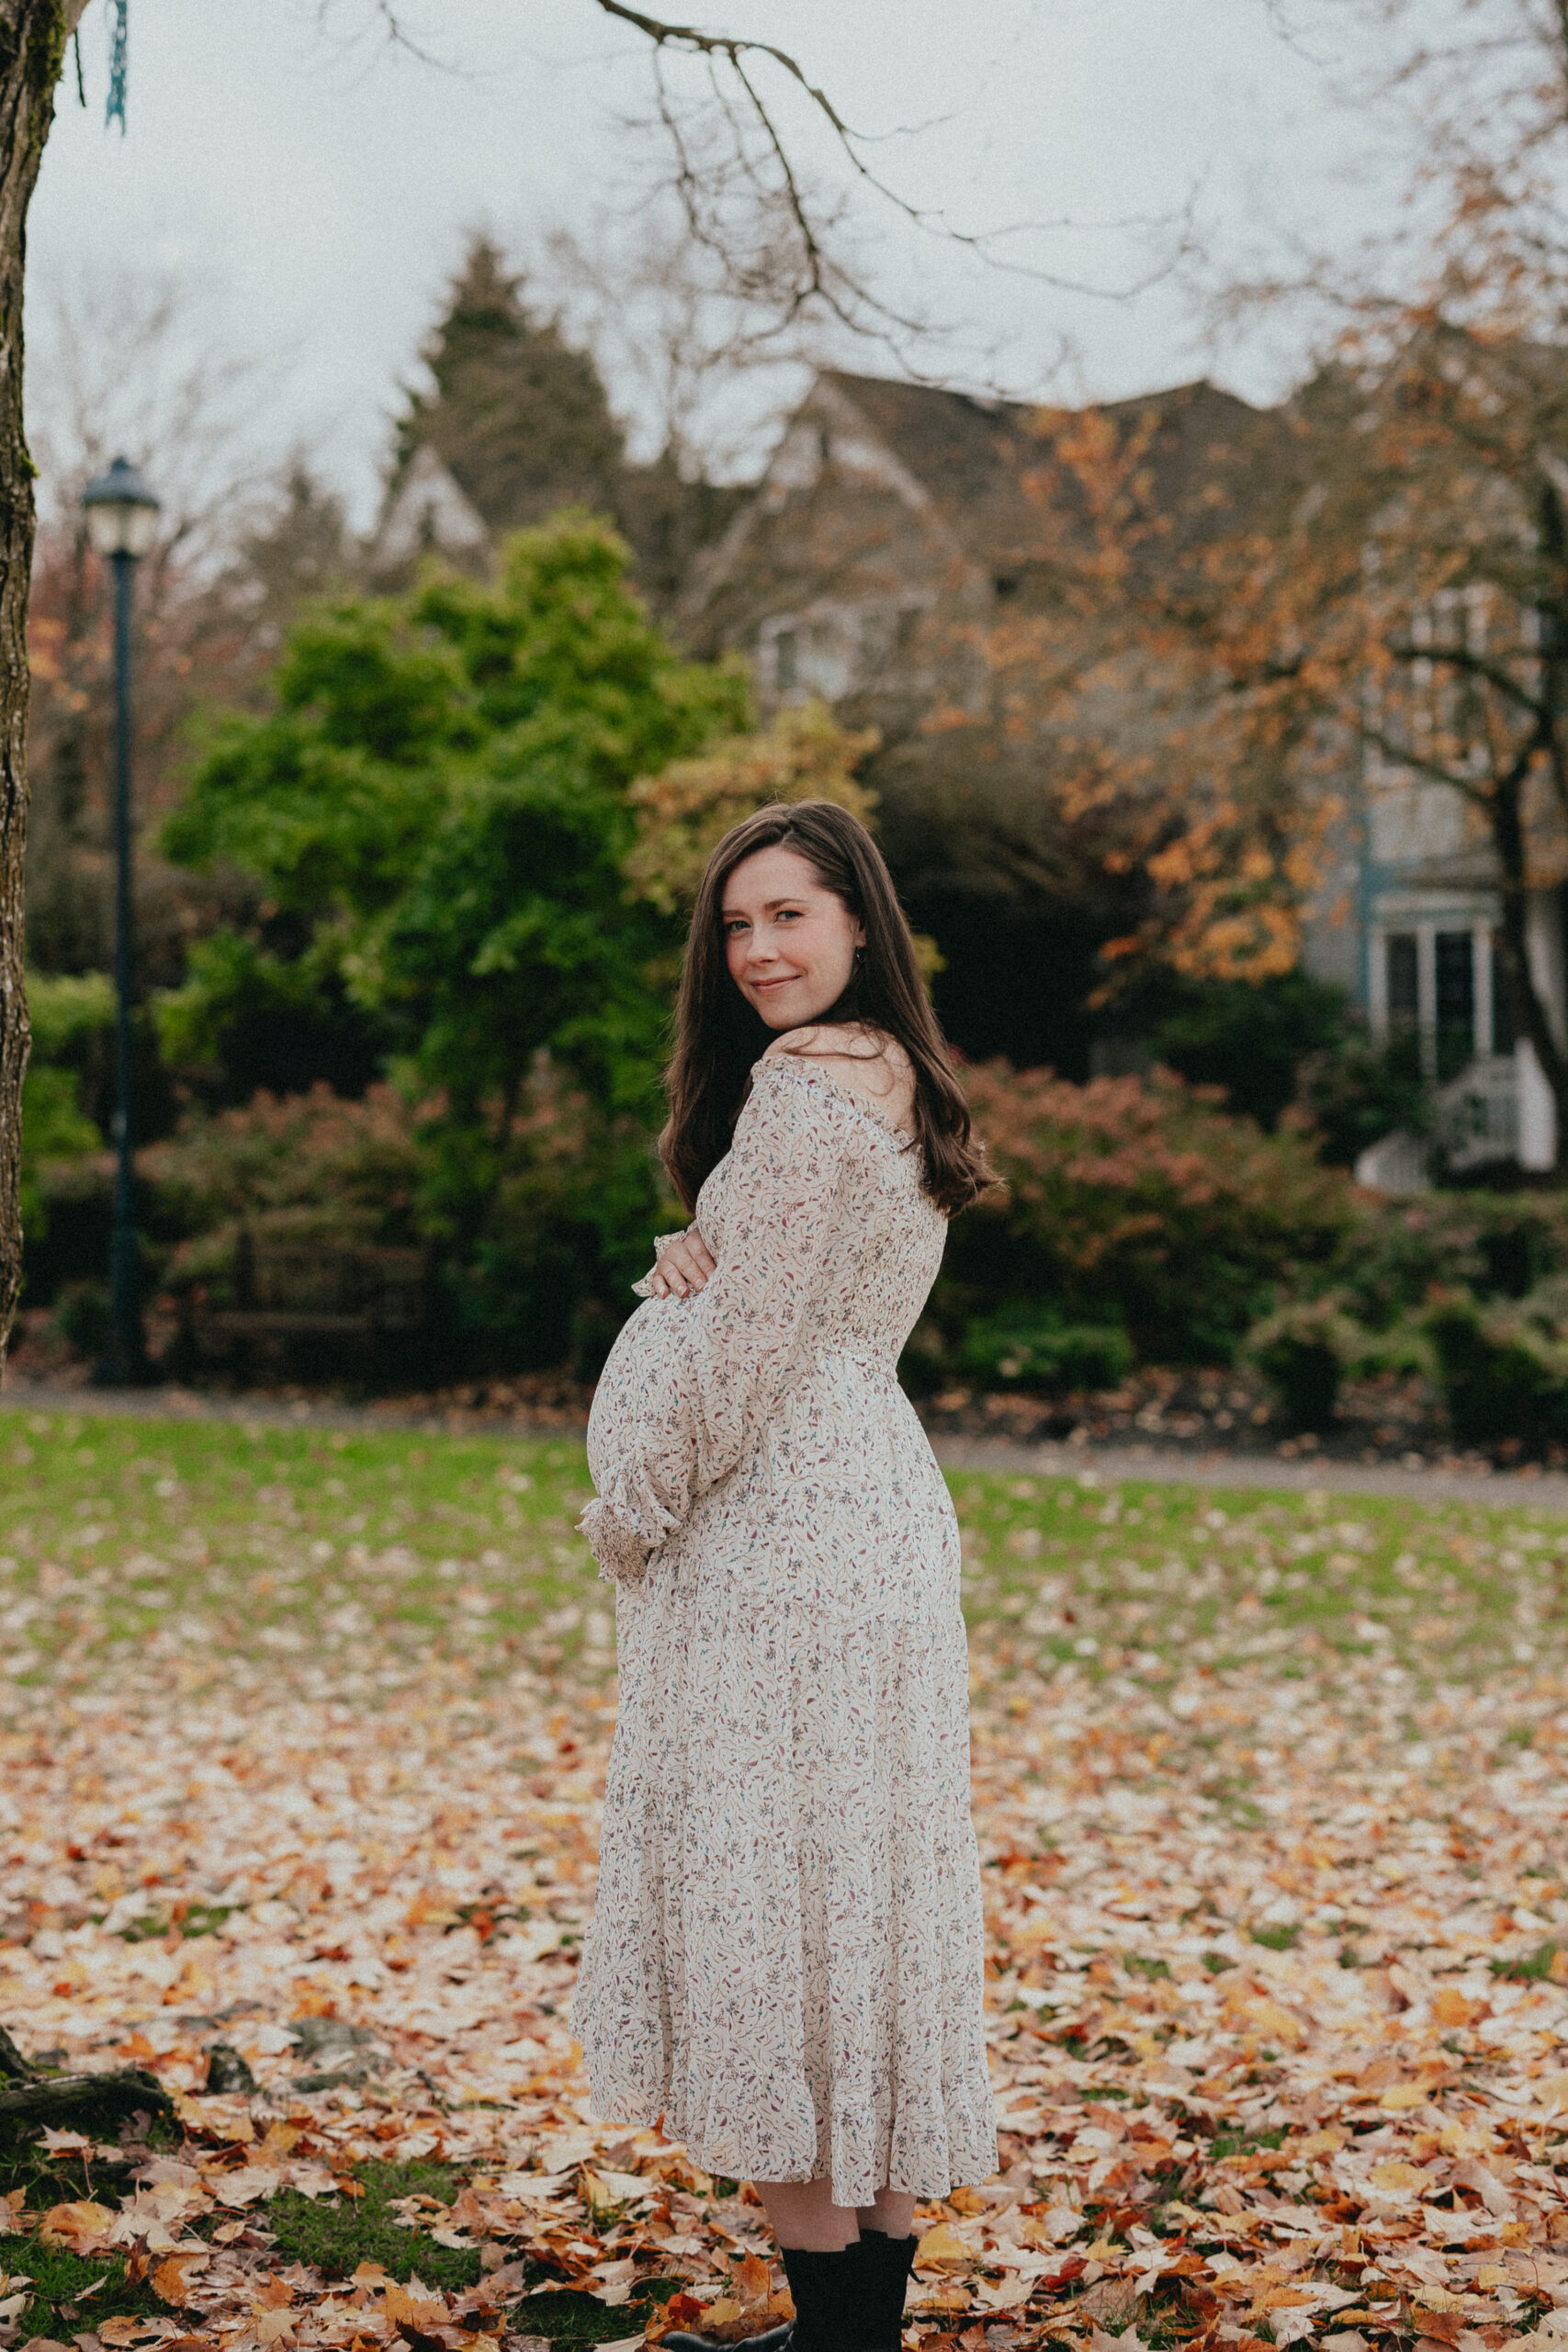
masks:
{"type": "Polygon", "coordinates": [[[33,461],[21,428],[28,205],[66,40],[87,0],[0,0],[0,1362],[21,1289],[21,856],[28,833],[28,572],[33,461]]]}

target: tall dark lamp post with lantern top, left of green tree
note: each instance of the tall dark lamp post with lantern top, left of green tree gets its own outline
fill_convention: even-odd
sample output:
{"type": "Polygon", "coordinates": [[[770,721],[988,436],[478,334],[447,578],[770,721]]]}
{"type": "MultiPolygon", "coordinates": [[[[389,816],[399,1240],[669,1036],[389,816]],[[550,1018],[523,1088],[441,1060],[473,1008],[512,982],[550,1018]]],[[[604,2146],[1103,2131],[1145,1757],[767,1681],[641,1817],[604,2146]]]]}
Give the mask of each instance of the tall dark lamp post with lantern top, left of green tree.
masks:
{"type": "Polygon", "coordinates": [[[158,536],[158,499],[118,456],[82,492],[87,536],[115,572],[115,1225],[108,1251],[110,1341],[99,1378],[146,1378],[132,1223],[132,569],[158,536]]]}

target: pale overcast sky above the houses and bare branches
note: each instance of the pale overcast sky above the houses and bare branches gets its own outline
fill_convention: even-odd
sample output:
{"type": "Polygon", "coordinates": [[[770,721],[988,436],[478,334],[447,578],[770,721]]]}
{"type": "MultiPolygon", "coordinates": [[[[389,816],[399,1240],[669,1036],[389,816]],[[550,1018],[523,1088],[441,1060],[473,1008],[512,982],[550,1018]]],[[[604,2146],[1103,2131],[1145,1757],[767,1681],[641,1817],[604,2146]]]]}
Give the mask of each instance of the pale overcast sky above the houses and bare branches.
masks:
{"type": "MultiPolygon", "coordinates": [[[[548,228],[585,230],[625,202],[623,118],[649,94],[646,45],[592,0],[407,0],[407,14],[456,71],[388,49],[374,0],[132,0],[120,139],[103,132],[106,0],[92,0],[89,106],[68,68],[31,223],[40,325],[54,294],[106,273],[190,278],[205,332],[270,362],[256,433],[306,440],[360,515],[465,233],[482,223],[527,259],[548,228]]],[[[1267,0],[703,0],[701,21],[790,47],[849,120],[889,134],[877,160],[900,191],[954,226],[1081,223],[1011,249],[1098,285],[1135,278],[1145,254],[1095,223],[1197,195],[1241,247],[1274,223],[1354,235],[1382,200],[1345,172],[1361,129],[1333,113],[1321,71],[1342,59],[1316,24],[1305,47],[1281,38],[1267,0]]],[[[914,285],[950,325],[954,379],[990,350],[1018,393],[1215,374],[1267,397],[1291,360],[1288,339],[1204,350],[1173,285],[1072,296],[976,270],[893,216],[865,228],[884,282],[914,285]],[[1063,336],[1077,362],[1051,383],[1063,336]]],[[[877,353],[858,365],[889,369],[877,353]]]]}

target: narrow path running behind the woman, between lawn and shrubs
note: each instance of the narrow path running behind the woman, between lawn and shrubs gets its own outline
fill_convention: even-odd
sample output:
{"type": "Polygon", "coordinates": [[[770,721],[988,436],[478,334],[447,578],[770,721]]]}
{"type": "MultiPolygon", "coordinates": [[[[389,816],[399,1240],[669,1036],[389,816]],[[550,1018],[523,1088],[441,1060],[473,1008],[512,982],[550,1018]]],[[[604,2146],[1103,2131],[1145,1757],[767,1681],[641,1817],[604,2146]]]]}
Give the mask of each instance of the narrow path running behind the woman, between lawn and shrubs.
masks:
{"type": "MultiPolygon", "coordinates": [[[[7,1385],[0,1411],[136,1421],[242,1421],[263,1428],[430,1430],[470,1437],[567,1437],[583,1430],[496,1421],[484,1414],[421,1414],[395,1402],[334,1404],[306,1397],[212,1397],[190,1388],[101,1390],[7,1385]]],[[[1272,1486],[1291,1494],[1382,1494],[1413,1503],[1495,1503],[1568,1512],[1561,1470],[1406,1470],[1399,1463],[1279,1461],[1260,1454],[1178,1454],[1171,1446],[1018,1444],[1009,1437],[938,1437],[945,1470],[1013,1470],[1039,1477],[1154,1479],[1171,1486],[1272,1486]]]]}

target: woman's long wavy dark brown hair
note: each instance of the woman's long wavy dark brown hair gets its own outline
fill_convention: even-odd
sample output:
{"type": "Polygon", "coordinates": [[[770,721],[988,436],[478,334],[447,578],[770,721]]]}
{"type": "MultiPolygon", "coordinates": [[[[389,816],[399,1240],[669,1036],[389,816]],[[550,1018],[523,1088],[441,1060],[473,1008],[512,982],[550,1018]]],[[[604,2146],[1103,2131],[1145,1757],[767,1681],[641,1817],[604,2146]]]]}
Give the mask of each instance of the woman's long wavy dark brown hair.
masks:
{"type": "Polygon", "coordinates": [[[675,1014],[675,1054],[665,1070],[670,1120],[658,1155],[686,1209],[731,1145],[752,1063],[776,1030],[752,1011],[724,957],[724,884],[759,849],[795,849],[823,889],[865,929],[849,988],[820,1025],[865,1023],[893,1037],[914,1065],[914,1134],[924,1188],[952,1216],[994,1178],[971,1141],[969,1103],[931,1011],[914,941],[893,877],[865,826],[832,800],[773,802],[733,826],[708,858],[696,898],[675,1014]]]}

